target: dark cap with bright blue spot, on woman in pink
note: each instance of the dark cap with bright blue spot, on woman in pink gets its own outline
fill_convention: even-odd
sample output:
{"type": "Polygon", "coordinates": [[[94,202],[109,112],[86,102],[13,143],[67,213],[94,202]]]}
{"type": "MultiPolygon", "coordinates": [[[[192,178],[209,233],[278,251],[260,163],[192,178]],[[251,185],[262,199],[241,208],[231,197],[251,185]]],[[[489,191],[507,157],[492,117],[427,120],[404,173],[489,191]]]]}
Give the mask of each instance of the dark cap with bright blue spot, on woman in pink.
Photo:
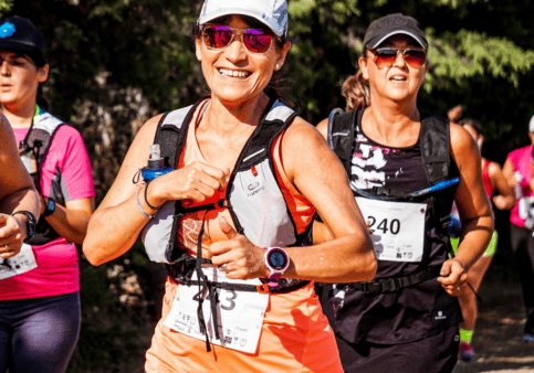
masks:
{"type": "Polygon", "coordinates": [[[44,54],[44,39],[30,20],[9,17],[0,21],[0,49],[44,54]]]}

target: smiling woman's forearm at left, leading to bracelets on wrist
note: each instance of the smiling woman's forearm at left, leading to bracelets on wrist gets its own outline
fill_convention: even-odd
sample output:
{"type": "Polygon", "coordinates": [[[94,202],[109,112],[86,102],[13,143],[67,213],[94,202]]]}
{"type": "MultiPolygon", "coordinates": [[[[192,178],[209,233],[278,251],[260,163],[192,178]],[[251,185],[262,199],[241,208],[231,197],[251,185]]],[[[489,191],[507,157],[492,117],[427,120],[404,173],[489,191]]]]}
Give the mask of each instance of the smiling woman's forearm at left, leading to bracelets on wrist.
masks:
{"type": "MultiPolygon", "coordinates": [[[[139,195],[142,195],[140,190],[139,195]]],[[[147,214],[155,214],[139,199],[147,214]]],[[[101,265],[126,253],[137,239],[149,219],[143,215],[133,194],[115,206],[101,206],[88,223],[83,252],[93,265],[101,265]]]]}

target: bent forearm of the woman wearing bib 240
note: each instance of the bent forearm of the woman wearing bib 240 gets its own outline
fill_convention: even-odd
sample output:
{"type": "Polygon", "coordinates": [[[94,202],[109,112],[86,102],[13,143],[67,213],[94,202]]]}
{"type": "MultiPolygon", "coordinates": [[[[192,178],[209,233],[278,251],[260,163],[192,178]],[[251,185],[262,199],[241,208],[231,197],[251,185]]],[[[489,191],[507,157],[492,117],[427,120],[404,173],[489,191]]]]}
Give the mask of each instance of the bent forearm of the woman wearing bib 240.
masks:
{"type": "Polygon", "coordinates": [[[482,256],[490,244],[492,233],[492,216],[480,216],[462,222],[462,234],[456,258],[462,263],[465,271],[482,256]]]}

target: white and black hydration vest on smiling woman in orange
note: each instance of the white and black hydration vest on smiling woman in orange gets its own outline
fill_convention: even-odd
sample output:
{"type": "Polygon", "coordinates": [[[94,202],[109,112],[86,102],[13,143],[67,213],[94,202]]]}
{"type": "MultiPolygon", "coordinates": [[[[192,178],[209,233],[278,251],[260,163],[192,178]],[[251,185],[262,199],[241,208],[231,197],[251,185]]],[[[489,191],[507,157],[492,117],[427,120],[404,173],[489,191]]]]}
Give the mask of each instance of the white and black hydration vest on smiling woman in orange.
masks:
{"type": "MultiPolygon", "coordinates": [[[[154,143],[159,143],[161,158],[165,158],[174,169],[178,168],[189,122],[199,104],[167,113],[159,121],[154,143]]],[[[295,117],[296,113],[292,109],[279,100],[271,99],[260,124],[237,160],[226,198],[214,204],[189,209],[182,206],[181,201],[167,201],[157,212],[156,217],[147,223],[143,230],[142,239],[148,257],[157,263],[166,263],[172,279],[184,285],[197,285],[197,281],[190,281],[192,273],[199,269],[201,264],[211,263],[209,259],[201,258],[200,239],[203,231],[199,234],[197,257],[192,257],[177,244],[180,219],[191,211],[228,207],[237,232],[245,235],[260,247],[312,245],[312,224],[304,233],[299,235],[296,232],[296,225],[276,180],[271,153],[274,140],[295,117]]],[[[216,287],[231,287],[244,291],[286,292],[301,288],[308,281],[281,278],[276,281],[276,286],[268,286],[268,281],[263,279],[262,283],[263,287],[259,289],[255,287],[249,289],[248,287],[251,287],[249,285],[239,287],[231,284],[216,284],[216,287]]]]}

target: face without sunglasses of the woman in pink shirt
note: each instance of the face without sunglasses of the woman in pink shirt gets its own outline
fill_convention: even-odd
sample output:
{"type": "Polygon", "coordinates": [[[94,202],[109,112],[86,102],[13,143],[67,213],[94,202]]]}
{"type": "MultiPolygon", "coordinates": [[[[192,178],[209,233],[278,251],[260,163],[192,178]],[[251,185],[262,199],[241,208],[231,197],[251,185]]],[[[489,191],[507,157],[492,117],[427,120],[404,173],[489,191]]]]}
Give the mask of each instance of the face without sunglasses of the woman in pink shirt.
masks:
{"type": "Polygon", "coordinates": [[[38,67],[20,52],[0,50],[0,103],[2,106],[34,105],[40,83],[46,81],[49,66],[38,67]]]}

